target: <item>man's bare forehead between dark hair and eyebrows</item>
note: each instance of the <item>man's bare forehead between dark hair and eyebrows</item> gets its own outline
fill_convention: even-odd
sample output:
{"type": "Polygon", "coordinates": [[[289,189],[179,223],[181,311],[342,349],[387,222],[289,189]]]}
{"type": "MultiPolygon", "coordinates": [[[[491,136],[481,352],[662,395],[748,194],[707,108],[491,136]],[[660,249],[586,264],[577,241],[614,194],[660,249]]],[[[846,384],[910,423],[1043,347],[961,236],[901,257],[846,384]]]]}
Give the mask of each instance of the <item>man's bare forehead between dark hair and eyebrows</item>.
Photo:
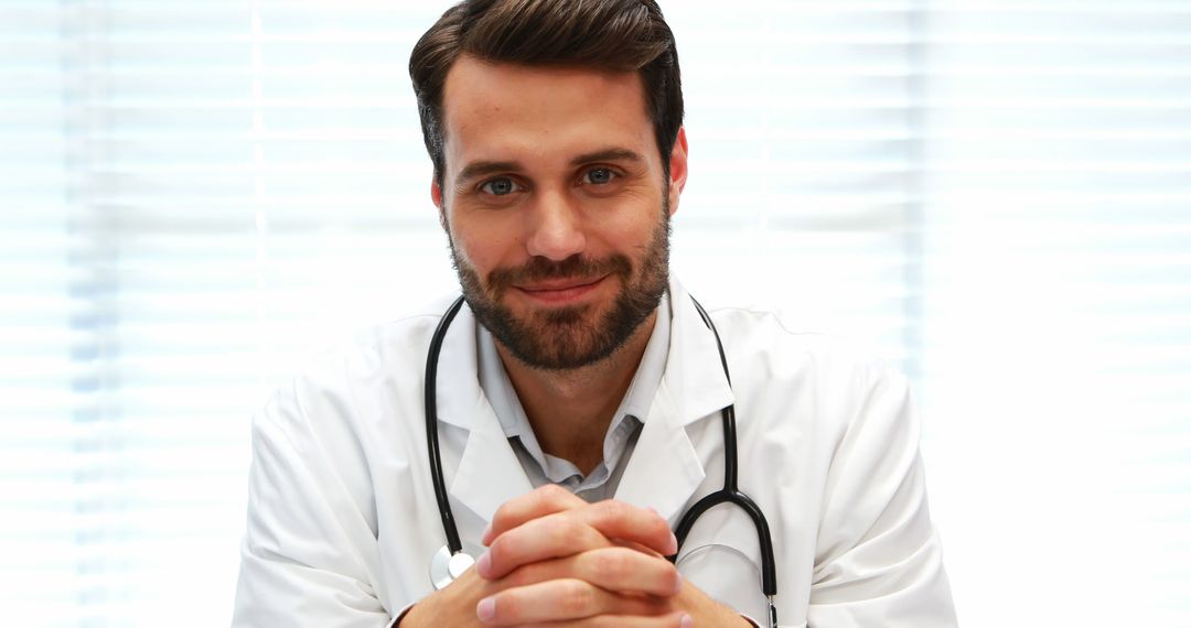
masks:
{"type": "Polygon", "coordinates": [[[654,142],[637,73],[490,63],[467,55],[447,75],[443,121],[448,170],[459,159],[516,157],[494,155],[501,152],[562,157],[594,144],[648,153],[654,142]]]}

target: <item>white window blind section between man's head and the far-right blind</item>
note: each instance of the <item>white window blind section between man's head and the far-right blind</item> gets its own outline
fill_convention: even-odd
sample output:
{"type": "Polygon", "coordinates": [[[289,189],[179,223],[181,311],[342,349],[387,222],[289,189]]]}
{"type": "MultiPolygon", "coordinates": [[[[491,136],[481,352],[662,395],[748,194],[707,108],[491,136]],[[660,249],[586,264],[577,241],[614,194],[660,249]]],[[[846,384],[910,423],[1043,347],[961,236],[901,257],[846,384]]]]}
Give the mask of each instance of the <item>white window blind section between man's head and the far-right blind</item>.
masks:
{"type": "Polygon", "coordinates": [[[678,272],[697,294],[862,335],[908,371],[918,359],[915,6],[663,7],[688,38],[678,272]]]}

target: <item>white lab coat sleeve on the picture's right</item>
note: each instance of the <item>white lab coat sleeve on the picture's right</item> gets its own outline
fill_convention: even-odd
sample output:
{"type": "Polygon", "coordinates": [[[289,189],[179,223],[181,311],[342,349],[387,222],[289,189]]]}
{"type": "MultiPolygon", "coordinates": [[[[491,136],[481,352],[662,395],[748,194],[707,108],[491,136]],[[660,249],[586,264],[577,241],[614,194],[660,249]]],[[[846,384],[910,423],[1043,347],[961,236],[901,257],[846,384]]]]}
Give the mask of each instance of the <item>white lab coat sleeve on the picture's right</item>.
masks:
{"type": "Polygon", "coordinates": [[[956,626],[927,508],[918,423],[900,375],[868,365],[827,473],[809,624],[956,626]]]}

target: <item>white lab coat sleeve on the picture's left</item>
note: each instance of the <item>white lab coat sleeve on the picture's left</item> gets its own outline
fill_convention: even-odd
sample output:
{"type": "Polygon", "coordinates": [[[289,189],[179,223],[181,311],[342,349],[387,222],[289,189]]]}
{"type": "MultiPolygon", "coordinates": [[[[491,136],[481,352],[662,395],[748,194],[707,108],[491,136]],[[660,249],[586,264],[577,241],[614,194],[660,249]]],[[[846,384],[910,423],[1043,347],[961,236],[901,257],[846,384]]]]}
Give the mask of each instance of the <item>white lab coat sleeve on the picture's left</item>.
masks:
{"type": "Polygon", "coordinates": [[[342,452],[350,440],[333,428],[342,402],[289,387],[254,421],[233,628],[381,628],[392,621],[370,584],[379,570],[376,535],[360,495],[370,489],[349,489],[361,484],[357,463],[329,451],[342,452]],[[330,431],[312,425],[307,404],[318,406],[318,420],[330,419],[330,431]]]}

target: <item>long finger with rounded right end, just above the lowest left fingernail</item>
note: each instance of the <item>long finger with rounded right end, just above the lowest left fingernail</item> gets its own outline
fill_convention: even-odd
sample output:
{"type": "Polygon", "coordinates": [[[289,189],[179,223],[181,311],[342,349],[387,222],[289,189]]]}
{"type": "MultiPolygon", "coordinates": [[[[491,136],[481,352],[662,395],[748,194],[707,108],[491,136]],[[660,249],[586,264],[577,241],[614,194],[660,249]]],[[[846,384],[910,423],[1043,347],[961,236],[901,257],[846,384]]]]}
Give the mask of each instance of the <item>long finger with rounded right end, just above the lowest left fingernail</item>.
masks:
{"type": "Polygon", "coordinates": [[[682,577],[673,563],[628,547],[606,547],[531,563],[503,578],[500,585],[526,586],[562,578],[579,578],[606,591],[655,597],[671,597],[682,589],[682,577]]]}

